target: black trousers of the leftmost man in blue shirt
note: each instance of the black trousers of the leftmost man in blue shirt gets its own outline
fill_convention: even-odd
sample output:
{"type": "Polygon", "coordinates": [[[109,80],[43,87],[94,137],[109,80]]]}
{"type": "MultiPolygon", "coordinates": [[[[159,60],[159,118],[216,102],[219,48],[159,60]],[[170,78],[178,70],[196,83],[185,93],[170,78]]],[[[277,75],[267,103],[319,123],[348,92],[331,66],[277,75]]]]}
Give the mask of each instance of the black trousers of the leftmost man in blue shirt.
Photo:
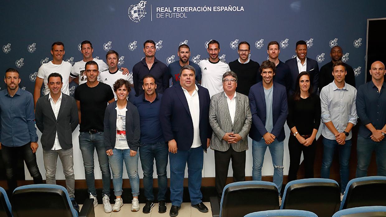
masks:
{"type": "Polygon", "coordinates": [[[35,184],[43,183],[42,175],[37,167],[36,154],[32,153],[31,143],[19,147],[7,147],[2,145],[2,157],[7,175],[8,191],[13,192],[17,187],[16,171],[17,159],[20,157],[27,165],[29,174],[34,178],[35,184]]]}

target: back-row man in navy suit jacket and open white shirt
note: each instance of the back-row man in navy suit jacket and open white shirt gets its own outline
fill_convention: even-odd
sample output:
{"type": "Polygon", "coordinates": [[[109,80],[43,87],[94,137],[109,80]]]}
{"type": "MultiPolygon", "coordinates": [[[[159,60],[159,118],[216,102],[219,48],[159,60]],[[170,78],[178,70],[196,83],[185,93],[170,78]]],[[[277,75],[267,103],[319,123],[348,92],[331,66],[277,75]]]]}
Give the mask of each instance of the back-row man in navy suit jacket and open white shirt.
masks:
{"type": "Polygon", "coordinates": [[[310,73],[310,81],[312,83],[313,93],[318,91],[319,81],[319,66],[318,62],[310,59],[307,56],[307,43],[303,40],[296,42],[296,57],[286,61],[286,65],[291,71],[292,85],[289,90],[289,94],[292,95],[295,92],[296,78],[300,72],[307,71],[310,73]]]}

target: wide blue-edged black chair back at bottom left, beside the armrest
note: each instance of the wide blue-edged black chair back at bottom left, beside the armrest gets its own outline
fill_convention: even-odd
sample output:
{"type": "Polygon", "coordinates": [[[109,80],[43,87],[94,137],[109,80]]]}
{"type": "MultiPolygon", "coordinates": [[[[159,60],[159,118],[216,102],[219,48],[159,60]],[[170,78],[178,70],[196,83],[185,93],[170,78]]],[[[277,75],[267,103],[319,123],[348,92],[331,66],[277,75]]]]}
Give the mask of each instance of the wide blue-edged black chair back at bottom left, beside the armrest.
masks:
{"type": "Polygon", "coordinates": [[[78,217],[66,188],[60,185],[20,186],[11,201],[14,217],[78,217]]]}

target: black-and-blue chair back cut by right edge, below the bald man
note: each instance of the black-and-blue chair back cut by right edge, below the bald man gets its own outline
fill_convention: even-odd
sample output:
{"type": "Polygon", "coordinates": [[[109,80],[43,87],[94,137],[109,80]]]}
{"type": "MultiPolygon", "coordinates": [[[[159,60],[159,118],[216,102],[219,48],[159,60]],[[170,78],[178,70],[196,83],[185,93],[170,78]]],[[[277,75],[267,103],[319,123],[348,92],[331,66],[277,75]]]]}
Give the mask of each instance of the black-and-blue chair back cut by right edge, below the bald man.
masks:
{"type": "Polygon", "coordinates": [[[347,183],[339,210],[364,206],[386,206],[385,195],[386,177],[354,178],[347,183]]]}

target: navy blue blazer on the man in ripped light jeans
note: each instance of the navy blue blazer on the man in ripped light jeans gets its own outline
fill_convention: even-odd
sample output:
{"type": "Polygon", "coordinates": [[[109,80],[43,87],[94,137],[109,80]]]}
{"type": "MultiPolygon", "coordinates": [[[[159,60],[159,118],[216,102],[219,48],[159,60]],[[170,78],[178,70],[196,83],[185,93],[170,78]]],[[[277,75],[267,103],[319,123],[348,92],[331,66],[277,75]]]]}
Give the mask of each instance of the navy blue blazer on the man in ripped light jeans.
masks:
{"type": "MultiPolygon", "coordinates": [[[[248,98],[252,113],[252,126],[249,131],[249,137],[252,140],[260,141],[262,136],[267,133],[265,128],[267,106],[262,82],[251,87],[248,98]]],[[[276,136],[278,141],[283,141],[286,137],[284,134],[284,123],[288,115],[286,87],[273,82],[272,98],[273,129],[271,133],[276,136]]]]}

